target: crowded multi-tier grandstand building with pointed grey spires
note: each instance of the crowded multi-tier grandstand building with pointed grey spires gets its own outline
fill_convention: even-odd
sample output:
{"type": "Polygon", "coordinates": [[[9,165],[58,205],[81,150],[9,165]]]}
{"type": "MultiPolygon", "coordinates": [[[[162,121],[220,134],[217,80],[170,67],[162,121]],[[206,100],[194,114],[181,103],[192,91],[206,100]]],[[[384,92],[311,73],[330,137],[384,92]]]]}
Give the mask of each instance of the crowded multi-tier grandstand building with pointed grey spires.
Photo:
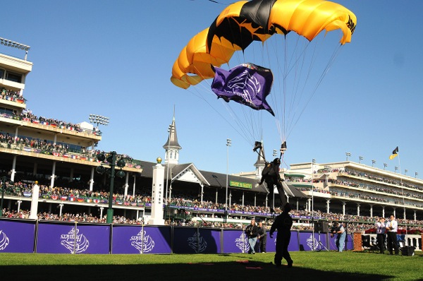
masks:
{"type": "MultiPolygon", "coordinates": [[[[1,40],[2,44],[11,42],[1,40]]],[[[29,49],[23,44],[12,44],[26,48],[26,52],[29,49]]],[[[108,206],[106,193],[110,184],[107,173],[96,172],[102,165],[96,158],[102,133],[86,121],[71,124],[39,117],[27,109],[26,97],[32,93],[24,91],[25,78],[31,71],[32,63],[26,54],[24,59],[18,59],[0,53],[0,177],[2,182],[13,181],[6,184],[3,207],[30,210],[32,184],[38,181],[39,212],[92,213],[102,217],[108,206]]],[[[180,210],[183,214],[188,210],[190,217],[197,220],[229,222],[235,218],[248,221],[251,217],[271,217],[266,208],[266,186],[257,184],[265,165],[264,148],[254,172],[230,174],[226,185],[226,174],[203,171],[193,163],[179,163],[182,147],[174,116],[170,128],[163,145],[165,218],[180,215],[180,210]],[[224,213],[226,186],[228,217],[224,213]],[[241,210],[245,205],[250,210],[241,210]]],[[[128,219],[148,216],[153,167],[157,162],[133,160],[118,150],[118,158],[125,161],[125,176],[115,178],[114,214],[128,219]]],[[[281,175],[290,189],[290,203],[309,214],[317,210],[369,217],[394,213],[400,219],[423,220],[423,181],[416,177],[349,161],[293,164],[281,175]]]]}

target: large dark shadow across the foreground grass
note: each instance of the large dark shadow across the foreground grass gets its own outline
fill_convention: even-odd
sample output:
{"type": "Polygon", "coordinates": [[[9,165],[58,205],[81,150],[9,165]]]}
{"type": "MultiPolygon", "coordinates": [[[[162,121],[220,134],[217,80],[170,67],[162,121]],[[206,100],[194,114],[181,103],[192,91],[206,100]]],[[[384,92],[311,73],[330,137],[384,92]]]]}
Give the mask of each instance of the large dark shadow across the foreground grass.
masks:
{"type": "MultiPolygon", "coordinates": [[[[333,261],[336,263],[336,261],[333,261]]],[[[139,265],[6,265],[2,280],[389,280],[382,274],[335,273],[295,265],[276,268],[271,263],[240,261],[222,263],[164,263],[139,265]],[[10,277],[10,278],[8,278],[10,277]]]]}

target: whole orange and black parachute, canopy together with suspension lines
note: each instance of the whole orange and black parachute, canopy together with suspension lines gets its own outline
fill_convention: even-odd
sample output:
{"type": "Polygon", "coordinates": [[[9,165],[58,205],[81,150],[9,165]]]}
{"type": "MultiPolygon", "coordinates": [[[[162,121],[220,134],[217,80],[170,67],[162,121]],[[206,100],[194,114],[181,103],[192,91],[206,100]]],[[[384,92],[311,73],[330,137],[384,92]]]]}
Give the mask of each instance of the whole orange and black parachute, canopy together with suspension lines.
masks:
{"type": "MultiPolygon", "coordinates": [[[[264,99],[264,104],[257,107],[252,106],[251,100],[240,98],[242,95],[225,98],[221,92],[216,93],[216,89],[204,88],[226,101],[236,102],[238,107],[233,107],[233,102],[223,104],[235,120],[229,122],[248,142],[262,139],[259,120],[263,116],[256,115],[266,109],[274,115],[281,143],[284,143],[333,64],[339,48],[351,41],[356,23],[353,12],[331,1],[238,1],[223,9],[209,28],[192,37],[173,64],[171,82],[188,90],[193,85],[200,89],[202,82],[216,80],[216,69],[223,72],[220,71],[223,64],[228,64],[228,72],[233,71],[230,65],[234,61],[237,66],[249,62],[271,69],[274,83],[265,94],[269,106],[264,99]],[[333,30],[339,30],[341,38],[336,44],[329,41],[333,38],[325,42],[326,35],[330,37],[333,30]],[[323,43],[317,45],[318,42],[323,43]],[[326,53],[327,57],[321,59],[320,53],[326,53]],[[321,72],[315,71],[317,66],[322,66],[321,72]],[[246,112],[245,105],[253,112],[246,112]]],[[[245,83],[245,89],[250,86],[245,83]]],[[[240,88],[240,92],[245,89],[240,88]]],[[[192,90],[194,95],[196,90],[192,90]]]]}

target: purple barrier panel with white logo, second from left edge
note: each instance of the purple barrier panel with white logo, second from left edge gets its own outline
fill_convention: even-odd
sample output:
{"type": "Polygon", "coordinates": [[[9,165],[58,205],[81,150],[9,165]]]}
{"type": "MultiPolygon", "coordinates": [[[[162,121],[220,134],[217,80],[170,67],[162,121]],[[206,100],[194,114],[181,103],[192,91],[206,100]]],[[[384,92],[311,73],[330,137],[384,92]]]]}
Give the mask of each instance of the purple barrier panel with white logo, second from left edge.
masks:
{"type": "Polygon", "coordinates": [[[109,225],[39,222],[37,253],[109,253],[109,225]]]}

